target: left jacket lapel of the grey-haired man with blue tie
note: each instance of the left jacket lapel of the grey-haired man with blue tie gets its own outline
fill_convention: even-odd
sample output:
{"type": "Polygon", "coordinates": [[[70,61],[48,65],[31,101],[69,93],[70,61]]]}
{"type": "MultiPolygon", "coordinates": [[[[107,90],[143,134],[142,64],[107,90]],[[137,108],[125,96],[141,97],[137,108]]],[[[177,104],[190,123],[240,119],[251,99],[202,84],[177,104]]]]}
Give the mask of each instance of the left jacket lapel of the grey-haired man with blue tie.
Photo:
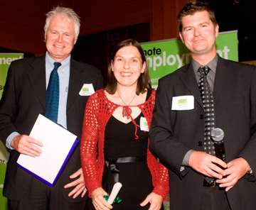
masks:
{"type": "Polygon", "coordinates": [[[37,57],[36,60],[31,63],[31,68],[33,70],[28,72],[31,86],[38,100],[46,109],[46,56],[37,57]]]}

